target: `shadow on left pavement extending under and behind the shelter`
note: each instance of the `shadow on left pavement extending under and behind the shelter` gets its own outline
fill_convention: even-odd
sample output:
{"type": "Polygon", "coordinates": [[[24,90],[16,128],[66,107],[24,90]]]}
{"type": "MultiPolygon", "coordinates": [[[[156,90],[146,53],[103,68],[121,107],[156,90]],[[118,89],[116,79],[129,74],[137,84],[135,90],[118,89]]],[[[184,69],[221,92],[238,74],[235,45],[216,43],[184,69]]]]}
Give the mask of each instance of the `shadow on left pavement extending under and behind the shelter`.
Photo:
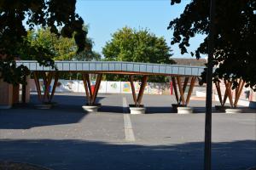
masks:
{"type": "MultiPolygon", "coordinates": [[[[98,98],[99,102],[103,97],[98,98]]],[[[57,103],[49,110],[36,109],[38,96],[32,95],[32,102],[26,106],[17,106],[10,110],[0,110],[1,129],[28,129],[49,125],[61,125],[79,122],[86,116],[82,105],[86,103],[84,96],[56,95],[57,103]]]]}

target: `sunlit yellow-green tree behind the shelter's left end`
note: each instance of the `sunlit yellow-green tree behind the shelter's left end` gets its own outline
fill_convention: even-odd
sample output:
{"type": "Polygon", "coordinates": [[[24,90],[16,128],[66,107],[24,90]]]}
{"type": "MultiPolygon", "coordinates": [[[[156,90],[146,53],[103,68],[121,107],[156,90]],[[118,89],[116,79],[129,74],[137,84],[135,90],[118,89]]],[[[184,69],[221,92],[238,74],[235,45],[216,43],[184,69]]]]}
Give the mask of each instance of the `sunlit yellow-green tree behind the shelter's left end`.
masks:
{"type": "MultiPolygon", "coordinates": [[[[88,31],[87,26],[84,26],[84,31],[88,31]]],[[[54,55],[54,60],[99,60],[100,54],[92,51],[93,41],[89,37],[85,37],[85,42],[88,47],[84,48],[77,54],[78,47],[75,43],[74,37],[58,37],[55,33],[50,32],[49,28],[28,31],[27,42],[33,46],[41,46],[49,49],[54,55]]],[[[35,59],[27,54],[20,54],[20,59],[35,59]]]]}

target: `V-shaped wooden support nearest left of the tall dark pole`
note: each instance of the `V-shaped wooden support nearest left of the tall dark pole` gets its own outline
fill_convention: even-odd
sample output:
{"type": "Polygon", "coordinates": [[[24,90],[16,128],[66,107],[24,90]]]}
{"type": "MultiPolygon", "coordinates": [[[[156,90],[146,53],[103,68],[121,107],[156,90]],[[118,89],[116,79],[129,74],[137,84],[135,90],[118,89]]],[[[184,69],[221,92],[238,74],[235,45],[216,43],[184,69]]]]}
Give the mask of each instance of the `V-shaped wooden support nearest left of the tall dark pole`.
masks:
{"type": "Polygon", "coordinates": [[[180,104],[189,105],[189,100],[193,92],[193,88],[195,87],[195,80],[196,80],[196,77],[191,77],[191,78],[185,77],[184,82],[182,84],[181,77],[172,77],[172,86],[174,89],[174,94],[175,94],[178,105],[180,104]],[[185,91],[188,87],[189,79],[190,79],[189,92],[185,98],[185,91]],[[179,94],[177,92],[177,87],[179,90],[179,94]]]}

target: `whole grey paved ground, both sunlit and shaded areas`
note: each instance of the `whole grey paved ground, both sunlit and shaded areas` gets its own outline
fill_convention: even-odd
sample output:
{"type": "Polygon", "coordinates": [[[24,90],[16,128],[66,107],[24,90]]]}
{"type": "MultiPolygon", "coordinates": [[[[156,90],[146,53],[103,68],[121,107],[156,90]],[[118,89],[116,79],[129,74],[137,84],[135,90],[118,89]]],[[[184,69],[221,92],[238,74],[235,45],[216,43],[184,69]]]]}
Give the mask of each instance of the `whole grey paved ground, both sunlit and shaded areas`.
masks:
{"type": "MultiPolygon", "coordinates": [[[[59,94],[59,105],[0,110],[0,161],[62,169],[202,169],[204,101],[177,115],[172,96],[145,95],[146,115],[129,115],[131,94],[99,96],[98,114],[81,109],[84,96],[59,94]]],[[[256,167],[256,111],[212,114],[212,169],[256,167]],[[254,112],[254,113],[253,113],[254,112]]]]}

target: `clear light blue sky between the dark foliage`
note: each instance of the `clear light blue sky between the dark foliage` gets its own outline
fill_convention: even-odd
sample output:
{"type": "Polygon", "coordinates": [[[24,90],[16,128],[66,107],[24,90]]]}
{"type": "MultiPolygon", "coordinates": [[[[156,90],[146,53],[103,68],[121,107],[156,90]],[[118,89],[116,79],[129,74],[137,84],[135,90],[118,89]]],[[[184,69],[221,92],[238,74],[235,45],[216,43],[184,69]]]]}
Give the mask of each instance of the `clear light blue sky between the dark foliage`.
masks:
{"type": "MultiPolygon", "coordinates": [[[[183,13],[189,0],[171,6],[170,0],[77,0],[76,12],[89,25],[88,37],[95,42],[94,50],[102,53],[102,47],[111,40],[111,35],[124,26],[135,29],[147,28],[158,37],[165,37],[172,48],[174,58],[191,58],[180,54],[177,45],[171,46],[172,31],[167,30],[171,20],[183,13]]],[[[190,42],[189,51],[195,50],[203,36],[190,42]]]]}

